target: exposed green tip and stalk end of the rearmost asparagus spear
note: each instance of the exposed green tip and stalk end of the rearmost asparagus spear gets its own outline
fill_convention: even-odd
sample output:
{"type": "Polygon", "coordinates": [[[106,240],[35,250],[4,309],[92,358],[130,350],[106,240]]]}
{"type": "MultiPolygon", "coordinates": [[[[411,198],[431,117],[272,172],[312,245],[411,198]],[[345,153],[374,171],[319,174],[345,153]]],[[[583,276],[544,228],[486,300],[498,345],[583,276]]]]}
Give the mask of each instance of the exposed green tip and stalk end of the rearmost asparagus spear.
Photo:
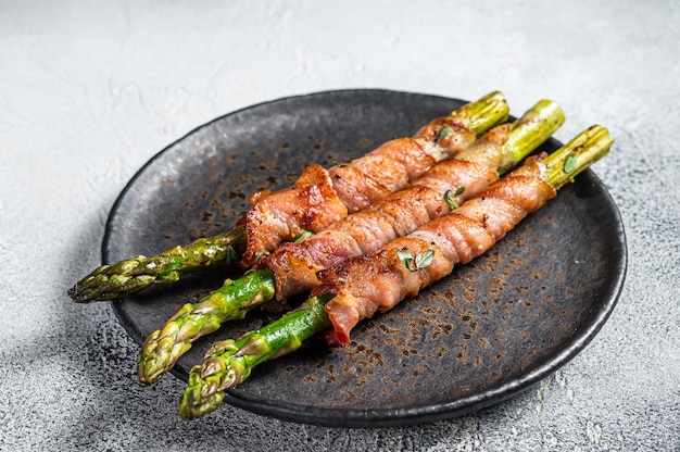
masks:
{"type": "MultiPolygon", "coordinates": [[[[449,117],[483,134],[507,118],[507,103],[499,91],[450,113],[449,117]]],[[[119,300],[153,284],[177,281],[182,275],[238,261],[245,251],[245,229],[237,226],[186,247],[175,247],[154,256],[139,255],[112,265],[102,265],[76,282],[68,296],[78,303],[119,300]]]]}

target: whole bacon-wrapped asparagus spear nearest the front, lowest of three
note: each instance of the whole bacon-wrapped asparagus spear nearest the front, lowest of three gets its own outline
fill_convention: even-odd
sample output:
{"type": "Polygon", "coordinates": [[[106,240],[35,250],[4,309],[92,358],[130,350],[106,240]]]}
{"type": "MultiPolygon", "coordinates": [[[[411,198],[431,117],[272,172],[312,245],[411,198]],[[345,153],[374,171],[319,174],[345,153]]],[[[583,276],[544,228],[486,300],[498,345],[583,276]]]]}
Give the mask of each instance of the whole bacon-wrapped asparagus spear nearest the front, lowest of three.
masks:
{"type": "Polygon", "coordinates": [[[604,156],[612,143],[605,128],[593,126],[547,158],[529,158],[474,200],[410,236],[323,272],[324,284],[300,307],[237,340],[215,343],[203,363],[191,369],[179,414],[191,419],[215,410],[225,391],[245,380],[256,365],[299,349],[313,336],[330,331],[337,344],[347,343],[362,318],[391,309],[449,275],[455,264],[493,247],[604,156]]]}

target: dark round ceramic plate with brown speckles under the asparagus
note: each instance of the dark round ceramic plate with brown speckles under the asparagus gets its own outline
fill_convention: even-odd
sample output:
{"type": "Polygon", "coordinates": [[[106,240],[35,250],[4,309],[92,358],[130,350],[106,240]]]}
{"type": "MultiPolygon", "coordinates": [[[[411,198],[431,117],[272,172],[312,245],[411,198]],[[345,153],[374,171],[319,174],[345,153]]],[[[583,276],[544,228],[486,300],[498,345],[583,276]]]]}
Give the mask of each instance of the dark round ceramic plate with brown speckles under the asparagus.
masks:
{"type": "MultiPolygon", "coordinates": [[[[249,193],[288,186],[311,163],[330,166],[411,135],[463,103],[347,90],[219,117],[164,149],[130,180],[111,212],[103,260],[155,254],[228,229],[248,208],[249,193]]],[[[551,140],[542,149],[559,146],[551,140]]],[[[490,406],[530,388],[585,347],[614,309],[626,259],[618,211],[588,171],[488,254],[363,322],[350,346],[328,350],[312,343],[261,365],[225,401],[340,427],[412,425],[490,406]]],[[[189,275],[113,307],[142,343],[181,304],[238,276],[228,268],[189,275]]],[[[252,314],[197,341],[174,374],[186,380],[212,341],[274,318],[252,314]]]]}

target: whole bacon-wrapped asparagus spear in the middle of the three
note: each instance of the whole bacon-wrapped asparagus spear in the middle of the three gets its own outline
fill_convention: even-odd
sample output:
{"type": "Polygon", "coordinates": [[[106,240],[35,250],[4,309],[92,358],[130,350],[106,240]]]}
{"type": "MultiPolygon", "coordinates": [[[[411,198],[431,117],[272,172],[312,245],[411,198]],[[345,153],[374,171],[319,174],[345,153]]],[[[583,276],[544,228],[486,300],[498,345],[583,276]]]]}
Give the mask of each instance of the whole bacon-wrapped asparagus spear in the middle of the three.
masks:
{"type": "Polygon", "coordinates": [[[284,243],[259,262],[257,271],[227,280],[198,303],[185,304],[153,331],[138,356],[140,381],[156,381],[194,340],[215,331],[222,323],[242,318],[274,296],[280,301],[307,292],[318,284],[318,271],[378,250],[445,214],[496,180],[499,171],[517,164],[563,123],[562,109],[542,100],[514,125],[496,126],[456,158],[433,165],[408,188],[306,240],[284,243]]]}

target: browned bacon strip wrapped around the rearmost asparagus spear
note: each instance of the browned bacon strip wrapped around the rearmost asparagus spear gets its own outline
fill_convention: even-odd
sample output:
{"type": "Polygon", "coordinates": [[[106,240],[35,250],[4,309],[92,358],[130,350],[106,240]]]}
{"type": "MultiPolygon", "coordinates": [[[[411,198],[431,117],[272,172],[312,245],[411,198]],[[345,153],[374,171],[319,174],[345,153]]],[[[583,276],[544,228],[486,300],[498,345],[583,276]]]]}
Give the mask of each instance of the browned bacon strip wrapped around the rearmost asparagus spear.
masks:
{"type": "Polygon", "coordinates": [[[457,154],[475,139],[470,128],[441,117],[412,138],[388,141],[345,165],[330,170],[312,165],[289,188],[254,193],[253,205],[237,224],[245,226],[248,237],[240,265],[249,267],[279,243],[305,230],[318,233],[349,213],[401,190],[433,163],[457,154]],[[439,139],[444,126],[449,126],[449,134],[439,139]]]}

